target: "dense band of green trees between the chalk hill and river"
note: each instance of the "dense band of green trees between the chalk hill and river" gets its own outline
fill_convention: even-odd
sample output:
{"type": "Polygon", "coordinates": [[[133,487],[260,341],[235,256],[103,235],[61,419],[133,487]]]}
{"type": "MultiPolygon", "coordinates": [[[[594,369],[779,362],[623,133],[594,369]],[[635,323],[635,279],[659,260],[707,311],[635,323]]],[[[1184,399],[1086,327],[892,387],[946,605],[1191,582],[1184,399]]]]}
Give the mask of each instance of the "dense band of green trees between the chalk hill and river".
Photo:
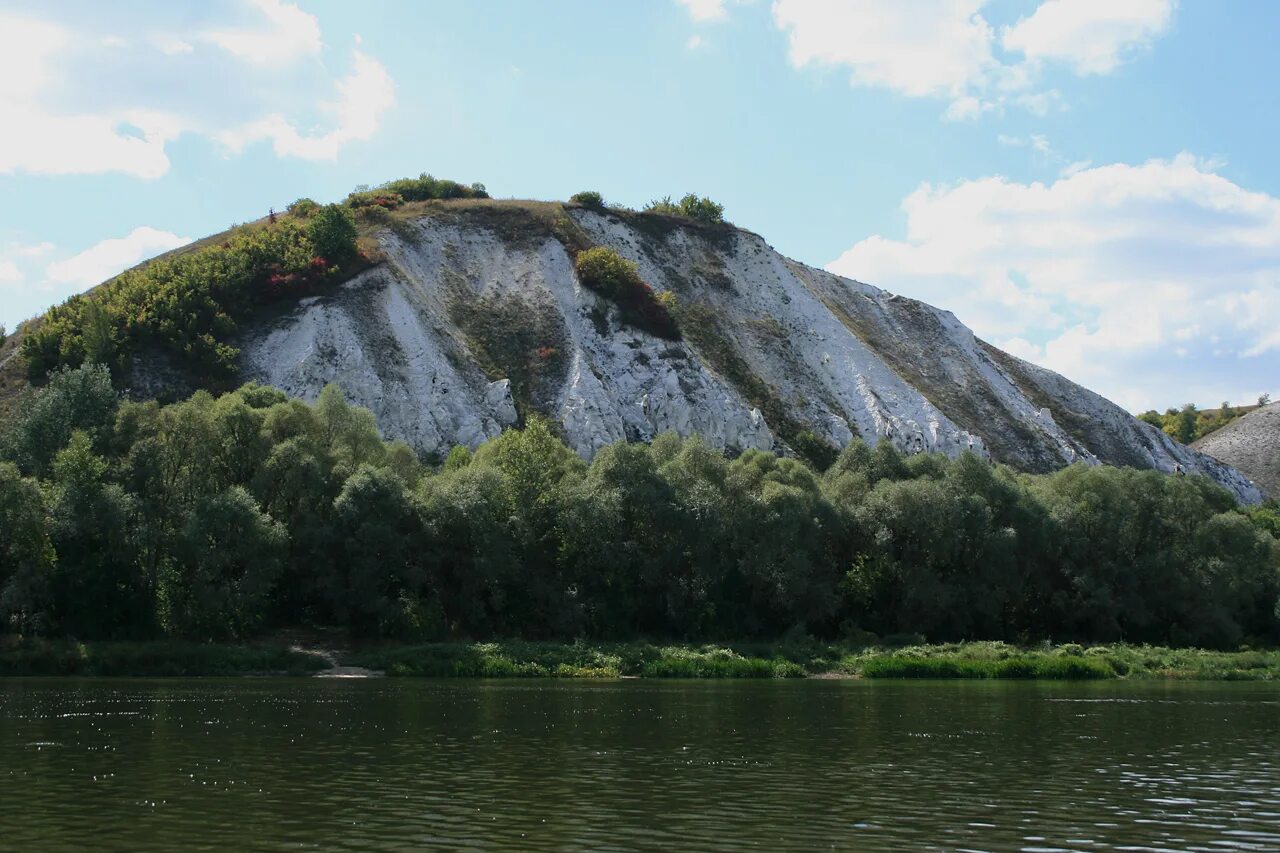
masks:
{"type": "Polygon", "coordinates": [[[0,530],[0,630],[82,639],[1280,640],[1280,514],[1198,476],[675,434],[586,464],[538,419],[436,464],[335,387],[161,406],[104,366],[4,430],[0,530]]]}

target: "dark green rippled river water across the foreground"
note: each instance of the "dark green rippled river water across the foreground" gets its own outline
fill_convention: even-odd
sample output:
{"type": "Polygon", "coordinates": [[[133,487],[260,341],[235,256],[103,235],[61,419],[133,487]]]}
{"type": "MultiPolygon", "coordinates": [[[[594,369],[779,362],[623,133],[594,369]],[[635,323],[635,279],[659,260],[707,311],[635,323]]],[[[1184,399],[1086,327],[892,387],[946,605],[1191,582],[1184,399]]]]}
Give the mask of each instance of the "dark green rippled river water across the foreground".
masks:
{"type": "Polygon", "coordinates": [[[0,848],[1280,849],[1280,686],[0,679],[0,848]]]}

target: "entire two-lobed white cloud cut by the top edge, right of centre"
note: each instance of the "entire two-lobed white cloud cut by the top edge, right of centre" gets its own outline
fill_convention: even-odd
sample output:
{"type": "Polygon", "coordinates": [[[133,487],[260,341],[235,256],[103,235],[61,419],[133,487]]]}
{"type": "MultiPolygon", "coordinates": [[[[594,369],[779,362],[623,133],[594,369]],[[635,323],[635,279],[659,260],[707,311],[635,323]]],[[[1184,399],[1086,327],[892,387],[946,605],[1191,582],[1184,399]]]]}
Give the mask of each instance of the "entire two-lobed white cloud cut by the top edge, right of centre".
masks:
{"type": "Polygon", "coordinates": [[[989,0],[774,0],[796,68],[844,68],[855,86],[910,97],[948,97],[943,118],[974,119],[1015,105],[1044,115],[1060,102],[1039,91],[1046,63],[1078,74],[1112,70],[1162,35],[1172,0],[1044,0],[997,32],[989,0]],[[1021,59],[997,55],[1000,46],[1021,59]]]}

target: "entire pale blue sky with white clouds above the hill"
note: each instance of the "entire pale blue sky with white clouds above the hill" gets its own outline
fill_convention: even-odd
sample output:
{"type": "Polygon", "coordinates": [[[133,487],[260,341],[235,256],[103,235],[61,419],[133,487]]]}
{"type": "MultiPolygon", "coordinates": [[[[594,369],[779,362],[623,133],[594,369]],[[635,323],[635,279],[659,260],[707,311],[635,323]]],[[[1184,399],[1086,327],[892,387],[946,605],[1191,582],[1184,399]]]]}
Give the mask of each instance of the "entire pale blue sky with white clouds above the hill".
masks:
{"type": "Polygon", "coordinates": [[[307,196],[698,192],[1132,411],[1280,398],[1280,3],[0,0],[0,323],[307,196]]]}

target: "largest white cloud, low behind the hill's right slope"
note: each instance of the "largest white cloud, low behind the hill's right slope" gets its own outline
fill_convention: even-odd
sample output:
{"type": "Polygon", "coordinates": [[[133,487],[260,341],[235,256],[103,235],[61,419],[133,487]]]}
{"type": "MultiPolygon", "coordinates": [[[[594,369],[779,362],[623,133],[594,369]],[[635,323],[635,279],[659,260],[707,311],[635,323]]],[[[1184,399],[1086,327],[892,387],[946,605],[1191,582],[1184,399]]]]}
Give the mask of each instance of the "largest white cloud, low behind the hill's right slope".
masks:
{"type": "Polygon", "coordinates": [[[923,184],[905,240],[870,237],[829,269],[948,307],[1133,409],[1247,400],[1280,375],[1280,199],[1213,167],[923,184]]]}

